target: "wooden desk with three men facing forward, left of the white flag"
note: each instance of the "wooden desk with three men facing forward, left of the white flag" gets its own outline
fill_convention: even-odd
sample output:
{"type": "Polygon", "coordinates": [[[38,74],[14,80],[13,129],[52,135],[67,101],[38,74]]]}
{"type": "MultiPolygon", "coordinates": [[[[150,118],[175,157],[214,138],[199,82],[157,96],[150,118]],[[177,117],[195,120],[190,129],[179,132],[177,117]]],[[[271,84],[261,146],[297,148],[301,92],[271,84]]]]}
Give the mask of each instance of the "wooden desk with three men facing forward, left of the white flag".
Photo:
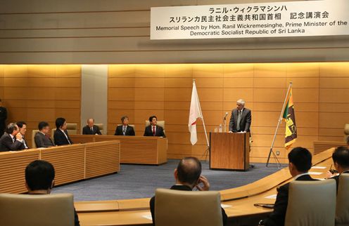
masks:
{"type": "Polygon", "coordinates": [[[120,140],[120,163],[160,165],[167,162],[167,138],[124,135],[70,135],[72,142],[120,140]]]}

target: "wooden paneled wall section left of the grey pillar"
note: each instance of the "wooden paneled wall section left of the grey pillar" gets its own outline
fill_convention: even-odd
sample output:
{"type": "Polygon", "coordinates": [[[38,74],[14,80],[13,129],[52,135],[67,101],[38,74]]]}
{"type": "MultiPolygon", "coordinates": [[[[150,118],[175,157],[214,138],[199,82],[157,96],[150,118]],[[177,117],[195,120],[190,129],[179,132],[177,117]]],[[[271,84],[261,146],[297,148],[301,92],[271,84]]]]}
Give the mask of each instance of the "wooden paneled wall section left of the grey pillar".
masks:
{"type": "Polygon", "coordinates": [[[39,121],[56,128],[56,118],[64,117],[79,130],[81,66],[0,65],[0,98],[8,110],[7,123],[27,123],[30,146],[39,121]]]}

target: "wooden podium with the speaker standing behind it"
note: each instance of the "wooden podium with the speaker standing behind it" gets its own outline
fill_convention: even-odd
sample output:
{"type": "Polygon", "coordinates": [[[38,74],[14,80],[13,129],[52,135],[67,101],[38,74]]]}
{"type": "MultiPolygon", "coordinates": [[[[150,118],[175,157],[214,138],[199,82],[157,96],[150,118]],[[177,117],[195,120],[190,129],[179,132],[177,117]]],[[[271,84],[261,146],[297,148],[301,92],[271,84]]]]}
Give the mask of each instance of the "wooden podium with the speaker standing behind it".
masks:
{"type": "Polygon", "coordinates": [[[250,163],[250,133],[210,133],[210,168],[246,171],[250,163]]]}

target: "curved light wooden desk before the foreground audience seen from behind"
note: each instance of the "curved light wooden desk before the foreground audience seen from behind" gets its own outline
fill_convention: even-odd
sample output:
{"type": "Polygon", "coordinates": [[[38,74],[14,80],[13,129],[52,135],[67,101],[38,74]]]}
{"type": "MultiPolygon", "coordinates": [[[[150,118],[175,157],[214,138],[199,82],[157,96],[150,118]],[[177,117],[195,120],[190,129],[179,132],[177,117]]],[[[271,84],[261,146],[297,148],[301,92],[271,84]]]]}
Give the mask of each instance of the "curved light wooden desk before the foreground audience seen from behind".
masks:
{"type": "MultiPolygon", "coordinates": [[[[315,166],[326,166],[324,169],[311,169],[310,172],[323,173],[312,175],[313,178],[324,178],[332,164],[333,150],[326,150],[313,157],[312,163],[315,166]]],[[[265,218],[272,210],[253,204],[273,204],[275,199],[266,197],[277,194],[277,187],[291,180],[288,168],[282,168],[256,182],[221,191],[222,204],[230,206],[224,208],[229,217],[229,225],[258,225],[258,220],[265,218]]],[[[81,225],[151,225],[151,220],[144,218],[144,215],[151,214],[148,201],[149,199],[129,199],[76,202],[75,208],[81,225]]]]}

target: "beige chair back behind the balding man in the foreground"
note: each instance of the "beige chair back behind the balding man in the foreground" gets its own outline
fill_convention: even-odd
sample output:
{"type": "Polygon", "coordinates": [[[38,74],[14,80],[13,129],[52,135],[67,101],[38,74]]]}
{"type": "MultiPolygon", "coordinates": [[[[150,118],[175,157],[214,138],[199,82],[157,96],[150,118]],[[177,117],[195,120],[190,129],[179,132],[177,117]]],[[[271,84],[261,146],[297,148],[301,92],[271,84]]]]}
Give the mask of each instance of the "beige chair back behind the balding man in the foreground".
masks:
{"type": "Polygon", "coordinates": [[[156,226],[222,226],[219,192],[157,189],[156,226]]]}

